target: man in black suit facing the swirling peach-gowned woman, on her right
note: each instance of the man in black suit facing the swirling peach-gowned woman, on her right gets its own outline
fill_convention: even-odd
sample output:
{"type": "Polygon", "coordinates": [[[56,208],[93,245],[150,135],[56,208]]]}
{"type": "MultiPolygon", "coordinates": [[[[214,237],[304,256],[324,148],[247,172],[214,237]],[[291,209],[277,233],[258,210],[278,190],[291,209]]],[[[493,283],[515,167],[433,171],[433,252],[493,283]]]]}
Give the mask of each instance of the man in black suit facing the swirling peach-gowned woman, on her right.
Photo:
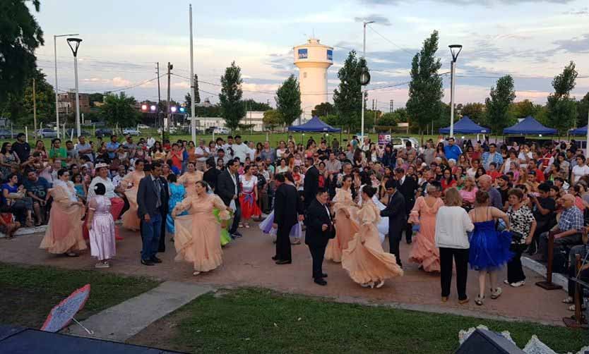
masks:
{"type": "Polygon", "coordinates": [[[388,252],[395,255],[399,267],[401,257],[399,252],[399,243],[403,236],[403,228],[407,224],[407,214],[405,214],[405,198],[397,190],[398,182],[394,179],[386,181],[386,193],[388,194],[388,205],[381,210],[381,216],[388,217],[388,252]]]}

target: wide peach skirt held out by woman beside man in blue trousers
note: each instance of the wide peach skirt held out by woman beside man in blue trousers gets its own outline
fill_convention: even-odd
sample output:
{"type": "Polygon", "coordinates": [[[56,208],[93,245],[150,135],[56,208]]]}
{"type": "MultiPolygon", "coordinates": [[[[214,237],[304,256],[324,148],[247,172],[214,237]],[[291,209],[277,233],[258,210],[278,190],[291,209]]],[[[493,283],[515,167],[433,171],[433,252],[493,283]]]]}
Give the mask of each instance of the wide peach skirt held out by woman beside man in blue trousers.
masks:
{"type": "Polygon", "coordinates": [[[222,264],[221,226],[213,213],[177,216],[174,227],[177,262],[191,262],[195,271],[210,271],[222,264]]]}

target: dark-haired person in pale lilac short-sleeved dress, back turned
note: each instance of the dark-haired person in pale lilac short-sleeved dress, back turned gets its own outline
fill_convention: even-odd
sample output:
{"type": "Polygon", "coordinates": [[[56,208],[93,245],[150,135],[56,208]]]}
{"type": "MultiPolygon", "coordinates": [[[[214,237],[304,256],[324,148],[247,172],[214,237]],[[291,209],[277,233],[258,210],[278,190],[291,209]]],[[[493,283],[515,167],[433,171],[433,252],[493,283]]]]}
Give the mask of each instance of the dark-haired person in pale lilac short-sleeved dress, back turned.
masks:
{"type": "Polygon", "coordinates": [[[105,197],[107,188],[102,183],[94,186],[95,197],[88,203],[88,221],[90,231],[90,255],[96,257],[96,268],[108,268],[108,260],[117,254],[114,245],[114,219],[110,214],[110,200],[105,197]]]}

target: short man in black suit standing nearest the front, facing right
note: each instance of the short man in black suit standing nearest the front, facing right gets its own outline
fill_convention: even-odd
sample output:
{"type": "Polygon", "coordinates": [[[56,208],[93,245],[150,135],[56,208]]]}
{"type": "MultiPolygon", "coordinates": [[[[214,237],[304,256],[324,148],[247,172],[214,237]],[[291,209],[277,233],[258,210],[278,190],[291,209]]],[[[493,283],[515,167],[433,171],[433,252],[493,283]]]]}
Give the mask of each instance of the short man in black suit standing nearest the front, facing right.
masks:
{"type": "Polygon", "coordinates": [[[305,225],[307,231],[305,233],[304,243],[309,246],[311,258],[313,259],[313,279],[319,285],[327,285],[325,278],[327,274],[323,273],[323,256],[325,255],[325,248],[328,240],[335,237],[335,229],[327,201],[329,193],[325,188],[319,188],[316,197],[311,201],[311,205],[307,208],[305,216],[305,225]]]}

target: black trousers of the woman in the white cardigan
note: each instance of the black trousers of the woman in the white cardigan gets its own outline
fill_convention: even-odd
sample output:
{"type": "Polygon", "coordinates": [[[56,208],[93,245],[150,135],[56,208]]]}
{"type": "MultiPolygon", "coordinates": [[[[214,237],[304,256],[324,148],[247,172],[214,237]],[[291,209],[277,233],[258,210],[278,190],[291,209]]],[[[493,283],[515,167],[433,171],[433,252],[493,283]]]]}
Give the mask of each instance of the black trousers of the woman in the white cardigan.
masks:
{"type": "Polygon", "coordinates": [[[456,291],[458,300],[465,300],[466,279],[468,277],[468,248],[440,248],[440,284],[442,296],[450,296],[452,285],[452,266],[456,262],[456,291]]]}

